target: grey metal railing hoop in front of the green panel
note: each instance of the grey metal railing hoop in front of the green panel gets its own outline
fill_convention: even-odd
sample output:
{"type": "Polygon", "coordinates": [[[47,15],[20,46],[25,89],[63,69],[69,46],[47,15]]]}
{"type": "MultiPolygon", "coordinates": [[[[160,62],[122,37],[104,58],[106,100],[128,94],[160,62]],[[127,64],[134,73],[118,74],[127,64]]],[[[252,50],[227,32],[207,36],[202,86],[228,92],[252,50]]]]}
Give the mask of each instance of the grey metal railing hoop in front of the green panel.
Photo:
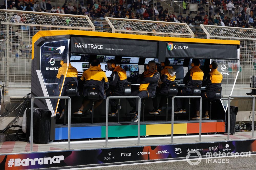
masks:
{"type": "MultiPolygon", "coordinates": [[[[109,99],[138,99],[138,143],[140,145],[140,129],[141,129],[141,98],[139,96],[109,96],[106,99],[106,141],[105,147],[108,147],[109,133],[109,99]]],[[[119,113],[118,113],[119,114],[119,113]]]]}

